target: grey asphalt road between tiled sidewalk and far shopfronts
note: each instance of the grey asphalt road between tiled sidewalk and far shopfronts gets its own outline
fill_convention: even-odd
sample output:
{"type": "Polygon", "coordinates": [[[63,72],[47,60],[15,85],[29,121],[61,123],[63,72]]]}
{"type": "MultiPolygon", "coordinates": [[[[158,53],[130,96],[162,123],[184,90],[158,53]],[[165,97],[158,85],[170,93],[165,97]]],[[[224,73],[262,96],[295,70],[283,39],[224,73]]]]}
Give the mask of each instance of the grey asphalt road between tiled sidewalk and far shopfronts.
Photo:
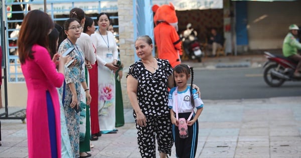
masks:
{"type": "Polygon", "coordinates": [[[287,81],[269,87],[262,68],[223,68],[194,70],[194,84],[201,88],[202,99],[255,99],[301,96],[301,82],[287,81]]]}

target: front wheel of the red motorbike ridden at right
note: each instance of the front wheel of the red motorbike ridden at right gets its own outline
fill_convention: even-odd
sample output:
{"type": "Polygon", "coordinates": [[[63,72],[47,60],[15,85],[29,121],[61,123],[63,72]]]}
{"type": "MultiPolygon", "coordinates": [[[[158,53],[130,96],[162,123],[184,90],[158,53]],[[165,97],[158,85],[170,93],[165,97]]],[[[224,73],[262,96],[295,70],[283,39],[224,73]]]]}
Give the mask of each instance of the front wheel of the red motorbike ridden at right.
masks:
{"type": "MultiPolygon", "coordinates": [[[[263,72],[263,78],[264,78],[265,83],[271,87],[280,87],[285,81],[285,79],[279,78],[279,77],[271,74],[271,71],[275,70],[277,68],[277,66],[278,66],[278,64],[276,64],[276,63],[271,64],[271,65],[267,66],[263,72]]],[[[281,67],[280,71],[283,71],[283,70],[284,69],[281,67]]]]}

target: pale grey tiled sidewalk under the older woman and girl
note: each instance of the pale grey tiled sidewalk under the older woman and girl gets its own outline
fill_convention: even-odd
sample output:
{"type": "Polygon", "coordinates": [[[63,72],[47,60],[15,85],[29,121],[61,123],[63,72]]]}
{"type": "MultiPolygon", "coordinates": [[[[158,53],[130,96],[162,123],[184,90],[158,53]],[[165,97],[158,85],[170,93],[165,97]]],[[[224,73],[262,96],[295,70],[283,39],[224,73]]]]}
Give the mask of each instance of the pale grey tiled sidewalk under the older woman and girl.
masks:
{"type": "MultiPolygon", "coordinates": [[[[301,96],[203,101],[196,157],[301,157],[301,96]]],[[[91,141],[92,157],[140,157],[132,109],[124,117],[116,134],[91,141]]],[[[26,124],[1,122],[0,157],[28,157],[26,124]]]]}

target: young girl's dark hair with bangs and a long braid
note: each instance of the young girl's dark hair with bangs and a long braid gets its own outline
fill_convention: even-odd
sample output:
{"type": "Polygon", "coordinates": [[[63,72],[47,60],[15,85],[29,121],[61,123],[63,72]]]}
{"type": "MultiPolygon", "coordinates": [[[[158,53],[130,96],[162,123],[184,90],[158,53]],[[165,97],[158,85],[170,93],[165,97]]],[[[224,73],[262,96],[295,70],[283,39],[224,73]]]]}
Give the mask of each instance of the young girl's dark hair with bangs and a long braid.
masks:
{"type": "MultiPolygon", "coordinates": [[[[186,76],[188,77],[188,75],[191,74],[191,84],[190,84],[190,98],[191,98],[191,104],[193,106],[195,106],[195,103],[194,103],[194,99],[193,99],[193,93],[192,93],[192,85],[193,85],[193,68],[186,65],[186,64],[179,64],[177,65],[175,68],[174,68],[174,73],[185,73],[186,76]]],[[[175,74],[174,74],[175,75],[175,74]]],[[[176,81],[174,80],[174,84],[176,86],[176,81]]]]}

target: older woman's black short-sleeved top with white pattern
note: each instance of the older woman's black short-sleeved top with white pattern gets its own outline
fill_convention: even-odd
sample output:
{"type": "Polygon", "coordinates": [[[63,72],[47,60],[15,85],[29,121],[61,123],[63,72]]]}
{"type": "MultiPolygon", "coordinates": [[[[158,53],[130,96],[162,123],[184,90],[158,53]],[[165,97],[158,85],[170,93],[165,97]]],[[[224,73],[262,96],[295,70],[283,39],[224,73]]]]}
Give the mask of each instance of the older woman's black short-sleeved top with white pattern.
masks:
{"type": "Polygon", "coordinates": [[[138,80],[137,99],[145,116],[168,115],[168,77],[173,73],[173,68],[168,60],[156,58],[158,69],[149,72],[141,62],[136,61],[129,67],[128,75],[138,80]]]}

